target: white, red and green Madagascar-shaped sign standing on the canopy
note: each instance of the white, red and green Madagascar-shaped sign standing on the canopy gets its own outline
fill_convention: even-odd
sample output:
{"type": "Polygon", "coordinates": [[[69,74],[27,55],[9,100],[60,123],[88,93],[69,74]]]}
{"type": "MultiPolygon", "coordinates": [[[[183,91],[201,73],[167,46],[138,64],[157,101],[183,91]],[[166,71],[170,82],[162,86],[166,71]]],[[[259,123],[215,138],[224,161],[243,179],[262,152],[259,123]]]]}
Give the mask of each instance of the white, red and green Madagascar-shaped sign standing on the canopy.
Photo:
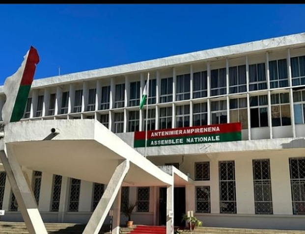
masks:
{"type": "Polygon", "coordinates": [[[22,118],[37,63],[39,63],[37,50],[31,46],[24,56],[21,67],[15,74],[6,78],[3,86],[6,101],[2,108],[4,124],[17,122],[22,118]]]}

